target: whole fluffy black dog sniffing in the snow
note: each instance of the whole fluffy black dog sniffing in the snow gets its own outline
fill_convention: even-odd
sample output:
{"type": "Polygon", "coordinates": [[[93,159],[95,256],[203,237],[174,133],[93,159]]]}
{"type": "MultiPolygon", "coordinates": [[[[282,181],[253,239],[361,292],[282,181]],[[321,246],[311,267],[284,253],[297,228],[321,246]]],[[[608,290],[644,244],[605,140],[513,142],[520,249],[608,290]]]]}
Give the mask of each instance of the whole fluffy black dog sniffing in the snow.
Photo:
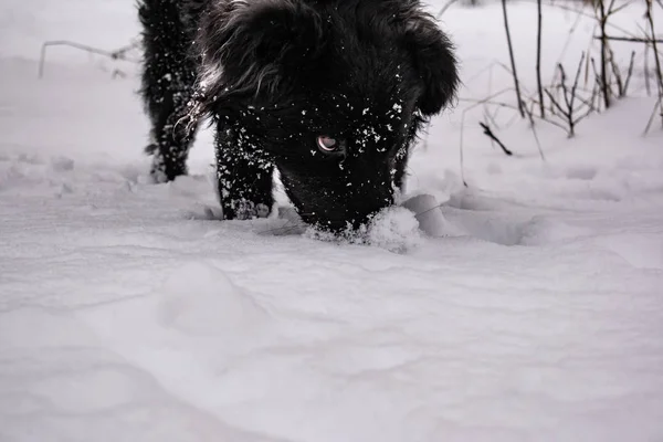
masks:
{"type": "Polygon", "coordinates": [[[305,222],[358,228],[393,203],[418,131],[456,92],[418,0],[140,0],[139,17],[152,177],[186,173],[211,116],[225,219],[270,213],[275,167],[305,222]]]}

